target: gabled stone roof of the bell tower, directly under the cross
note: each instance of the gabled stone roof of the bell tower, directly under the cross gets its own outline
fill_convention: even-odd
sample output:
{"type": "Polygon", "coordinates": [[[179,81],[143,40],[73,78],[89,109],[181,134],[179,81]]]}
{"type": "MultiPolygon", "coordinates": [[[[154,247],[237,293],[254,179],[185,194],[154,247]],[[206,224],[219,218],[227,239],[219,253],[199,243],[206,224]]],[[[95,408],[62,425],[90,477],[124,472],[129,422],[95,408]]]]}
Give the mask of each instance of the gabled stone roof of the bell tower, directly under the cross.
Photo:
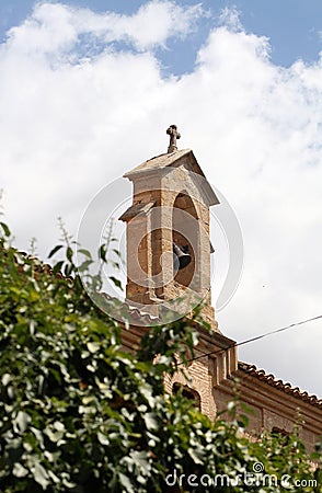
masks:
{"type": "Polygon", "coordinates": [[[165,170],[166,168],[179,168],[181,165],[184,165],[187,170],[193,171],[196,175],[200,176],[198,185],[203,187],[203,191],[208,199],[208,204],[210,206],[219,204],[219,199],[215,194],[211,185],[207,181],[192,149],[182,149],[171,153],[156,156],[154,158],[142,162],[141,164],[125,173],[124,177],[133,181],[136,177],[140,177],[143,174],[154,170],[165,170]]]}

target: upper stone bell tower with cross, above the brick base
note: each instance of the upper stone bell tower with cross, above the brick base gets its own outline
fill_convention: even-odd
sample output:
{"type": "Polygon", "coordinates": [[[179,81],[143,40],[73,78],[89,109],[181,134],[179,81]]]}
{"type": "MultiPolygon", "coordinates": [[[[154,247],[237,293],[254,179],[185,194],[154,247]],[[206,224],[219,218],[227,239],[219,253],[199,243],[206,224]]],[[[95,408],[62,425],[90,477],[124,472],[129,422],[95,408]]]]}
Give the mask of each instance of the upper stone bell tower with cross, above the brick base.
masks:
{"type": "Polygon", "coordinates": [[[209,207],[219,200],[193,151],[177,150],[176,126],[166,133],[168,153],[124,175],[134,184],[133,205],[119,218],[127,222],[126,297],[156,308],[177,309],[180,302],[186,313],[203,302],[203,317],[216,329],[209,207]]]}

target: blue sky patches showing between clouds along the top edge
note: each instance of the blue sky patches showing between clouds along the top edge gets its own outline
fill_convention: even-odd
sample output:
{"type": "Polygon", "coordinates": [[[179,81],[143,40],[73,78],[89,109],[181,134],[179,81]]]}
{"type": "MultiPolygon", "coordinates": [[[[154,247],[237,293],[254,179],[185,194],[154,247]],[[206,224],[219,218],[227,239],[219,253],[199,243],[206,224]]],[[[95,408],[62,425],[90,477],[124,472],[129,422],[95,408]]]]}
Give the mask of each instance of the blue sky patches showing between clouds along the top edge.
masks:
{"type": "MultiPolygon", "coordinates": [[[[31,12],[34,0],[1,0],[0,38],[13,25],[20,24],[31,12]]],[[[51,2],[55,3],[55,2],[51,2]]],[[[90,8],[96,12],[115,11],[133,14],[146,3],[142,0],[66,0],[62,3],[90,8]]],[[[194,0],[176,1],[180,5],[195,4],[194,0]]],[[[322,49],[322,2],[320,0],[205,0],[200,2],[209,18],[199,21],[196,32],[188,39],[170,41],[169,50],[162,50],[160,59],[165,72],[175,74],[189,71],[195,53],[205,42],[210,25],[218,22],[225,8],[235,7],[240,20],[250,33],[267,36],[274,64],[289,67],[301,58],[307,62],[318,59],[322,49]]]]}

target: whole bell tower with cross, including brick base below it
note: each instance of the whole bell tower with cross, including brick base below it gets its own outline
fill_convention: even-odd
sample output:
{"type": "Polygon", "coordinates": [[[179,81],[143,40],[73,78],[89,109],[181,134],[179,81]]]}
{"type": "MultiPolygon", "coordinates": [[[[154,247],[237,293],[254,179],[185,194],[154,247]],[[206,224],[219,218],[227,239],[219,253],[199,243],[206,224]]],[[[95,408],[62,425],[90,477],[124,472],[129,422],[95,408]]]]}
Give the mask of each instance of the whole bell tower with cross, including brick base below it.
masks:
{"type": "MultiPolygon", "coordinates": [[[[211,332],[198,325],[196,359],[189,364],[188,380],[179,372],[165,376],[165,389],[180,387],[196,405],[214,419],[215,389],[237,369],[235,343],[221,334],[215,321],[210,293],[209,208],[219,200],[191,149],[177,150],[180,138],[171,125],[168,152],[139,164],[124,176],[134,184],[133,205],[120,216],[127,225],[126,302],[141,313],[124,331],[129,349],[147,330],[145,314],[176,312],[188,316],[202,303],[202,317],[211,332]]],[[[161,314],[161,317],[160,317],[161,314]]]]}

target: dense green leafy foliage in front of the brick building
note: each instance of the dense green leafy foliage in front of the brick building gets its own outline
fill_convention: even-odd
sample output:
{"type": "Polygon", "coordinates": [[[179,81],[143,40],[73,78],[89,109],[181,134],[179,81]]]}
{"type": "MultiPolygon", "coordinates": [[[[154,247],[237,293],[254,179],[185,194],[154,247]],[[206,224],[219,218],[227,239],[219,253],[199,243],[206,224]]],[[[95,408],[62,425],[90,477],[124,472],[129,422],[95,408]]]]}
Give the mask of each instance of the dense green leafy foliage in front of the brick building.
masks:
{"type": "MultiPolygon", "coordinates": [[[[252,442],[242,434],[244,419],[210,423],[180,393],[164,395],[164,372],[184,369],[181,363],[193,356],[192,321],[152,328],[137,354],[125,353],[120,328],[80,282],[78,267],[89,270],[90,253],[80,251],[77,266],[66,237],[50,252],[65,251],[66,259],[51,271],[10,246],[10,230],[0,226],[1,492],[211,492],[215,486],[192,486],[188,475],[233,480],[258,461],[279,480],[313,478],[296,435],[287,444],[269,435],[252,442]]],[[[100,255],[106,261],[106,249],[100,255]]],[[[284,490],[223,484],[216,491],[284,490]]]]}

